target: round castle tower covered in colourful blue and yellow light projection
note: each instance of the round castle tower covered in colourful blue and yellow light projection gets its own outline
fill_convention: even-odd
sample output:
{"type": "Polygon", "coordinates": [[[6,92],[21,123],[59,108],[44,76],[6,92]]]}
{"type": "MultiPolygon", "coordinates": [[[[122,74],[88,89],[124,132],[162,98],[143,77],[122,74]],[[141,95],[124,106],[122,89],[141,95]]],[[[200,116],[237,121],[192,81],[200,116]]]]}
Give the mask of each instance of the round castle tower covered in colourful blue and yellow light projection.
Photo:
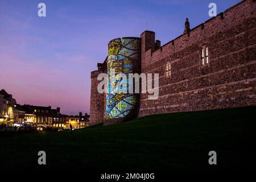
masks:
{"type": "Polygon", "coordinates": [[[108,94],[106,97],[106,119],[124,118],[131,115],[137,106],[137,96],[129,93],[129,73],[138,73],[141,61],[141,39],[122,38],[109,42],[108,52],[108,94]],[[124,73],[127,80],[118,76],[124,73]],[[118,88],[117,88],[118,87],[118,88]],[[120,93],[117,90],[126,90],[120,93]]]}

